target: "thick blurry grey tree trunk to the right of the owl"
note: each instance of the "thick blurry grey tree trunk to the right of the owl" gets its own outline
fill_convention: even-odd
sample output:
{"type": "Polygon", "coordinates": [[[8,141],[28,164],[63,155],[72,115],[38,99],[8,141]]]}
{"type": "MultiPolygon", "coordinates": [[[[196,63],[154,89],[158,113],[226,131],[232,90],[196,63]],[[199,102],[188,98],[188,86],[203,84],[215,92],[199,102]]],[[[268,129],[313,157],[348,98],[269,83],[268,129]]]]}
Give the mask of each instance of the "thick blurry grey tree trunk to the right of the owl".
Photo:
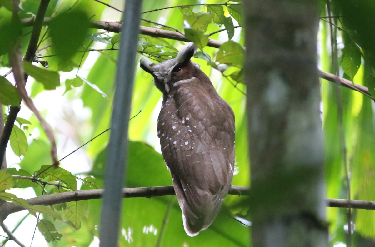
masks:
{"type": "Polygon", "coordinates": [[[328,246],[318,1],[244,4],[252,244],[328,246]]]}

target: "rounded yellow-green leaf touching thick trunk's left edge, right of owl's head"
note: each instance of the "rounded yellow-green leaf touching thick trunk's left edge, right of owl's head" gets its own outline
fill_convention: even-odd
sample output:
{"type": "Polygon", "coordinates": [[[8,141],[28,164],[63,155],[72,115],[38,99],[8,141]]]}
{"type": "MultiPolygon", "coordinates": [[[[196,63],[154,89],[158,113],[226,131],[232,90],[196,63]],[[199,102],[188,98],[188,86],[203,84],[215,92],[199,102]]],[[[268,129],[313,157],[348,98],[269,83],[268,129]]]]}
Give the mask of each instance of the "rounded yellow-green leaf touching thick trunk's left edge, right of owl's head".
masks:
{"type": "Polygon", "coordinates": [[[220,45],[219,51],[216,54],[216,62],[233,64],[239,67],[243,66],[244,58],[244,49],[239,43],[233,40],[229,40],[220,45]]]}

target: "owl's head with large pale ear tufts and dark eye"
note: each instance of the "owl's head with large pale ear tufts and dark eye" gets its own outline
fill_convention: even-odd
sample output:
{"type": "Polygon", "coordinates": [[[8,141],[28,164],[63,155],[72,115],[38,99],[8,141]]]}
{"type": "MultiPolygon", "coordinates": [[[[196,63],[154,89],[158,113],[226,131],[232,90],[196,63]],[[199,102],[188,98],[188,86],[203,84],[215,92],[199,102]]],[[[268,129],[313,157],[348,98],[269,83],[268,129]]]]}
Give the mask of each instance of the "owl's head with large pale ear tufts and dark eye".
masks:
{"type": "Polygon", "coordinates": [[[193,42],[184,45],[175,58],[155,64],[142,57],[139,63],[141,68],[154,77],[155,86],[163,93],[168,94],[175,82],[191,79],[200,69],[190,61],[198,48],[193,42]]]}

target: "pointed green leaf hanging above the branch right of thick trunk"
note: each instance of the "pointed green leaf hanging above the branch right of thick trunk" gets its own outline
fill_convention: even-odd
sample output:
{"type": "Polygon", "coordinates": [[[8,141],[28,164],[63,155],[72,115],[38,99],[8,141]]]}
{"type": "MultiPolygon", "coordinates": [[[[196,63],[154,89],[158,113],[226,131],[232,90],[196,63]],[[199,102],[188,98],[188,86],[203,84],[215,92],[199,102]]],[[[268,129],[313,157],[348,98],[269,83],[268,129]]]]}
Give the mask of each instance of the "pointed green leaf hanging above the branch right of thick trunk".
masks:
{"type": "Polygon", "coordinates": [[[353,81],[353,78],[361,65],[361,51],[351,40],[345,42],[345,47],[342,49],[340,65],[344,70],[344,73],[351,78],[351,81],[353,81]]]}

